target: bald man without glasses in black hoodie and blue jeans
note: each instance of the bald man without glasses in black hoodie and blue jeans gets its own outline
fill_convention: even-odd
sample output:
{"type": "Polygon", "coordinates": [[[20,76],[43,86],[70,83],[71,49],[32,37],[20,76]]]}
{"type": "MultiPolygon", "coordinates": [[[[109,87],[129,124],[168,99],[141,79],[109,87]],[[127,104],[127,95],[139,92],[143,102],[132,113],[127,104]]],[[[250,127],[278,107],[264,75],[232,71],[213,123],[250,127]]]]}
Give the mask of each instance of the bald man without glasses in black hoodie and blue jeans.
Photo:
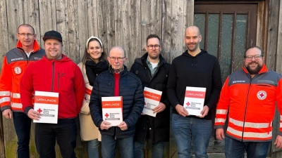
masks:
{"type": "Polygon", "coordinates": [[[178,146],[178,158],[190,157],[191,141],[196,157],[207,157],[207,146],[212,133],[212,109],[216,108],[221,91],[219,61],[200,49],[200,29],[190,26],[184,41],[188,48],[174,58],[168,77],[168,99],[173,107],[172,130],[178,146]],[[186,86],[206,88],[204,107],[200,116],[192,116],[183,107],[186,86]]]}

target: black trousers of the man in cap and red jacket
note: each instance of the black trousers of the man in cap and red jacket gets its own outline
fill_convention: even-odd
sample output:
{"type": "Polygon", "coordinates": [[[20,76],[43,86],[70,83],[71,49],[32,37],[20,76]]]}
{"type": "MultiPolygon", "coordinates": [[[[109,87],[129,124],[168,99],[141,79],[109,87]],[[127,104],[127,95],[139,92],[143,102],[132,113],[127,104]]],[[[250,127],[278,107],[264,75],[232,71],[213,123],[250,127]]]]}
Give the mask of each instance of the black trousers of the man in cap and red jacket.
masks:
{"type": "Polygon", "coordinates": [[[35,145],[40,158],[55,158],[56,141],[63,158],[75,158],[75,119],[58,119],[58,124],[35,124],[35,145]]]}

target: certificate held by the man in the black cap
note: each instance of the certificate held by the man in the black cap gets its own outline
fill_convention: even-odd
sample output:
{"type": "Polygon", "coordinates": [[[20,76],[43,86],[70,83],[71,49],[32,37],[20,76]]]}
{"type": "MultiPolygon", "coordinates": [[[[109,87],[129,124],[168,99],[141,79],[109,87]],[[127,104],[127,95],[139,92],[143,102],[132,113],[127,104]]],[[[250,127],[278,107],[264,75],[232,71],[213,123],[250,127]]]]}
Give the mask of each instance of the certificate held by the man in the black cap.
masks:
{"type": "Polygon", "coordinates": [[[40,114],[40,119],[35,123],[58,123],[59,93],[35,91],[35,106],[33,109],[40,114]]]}

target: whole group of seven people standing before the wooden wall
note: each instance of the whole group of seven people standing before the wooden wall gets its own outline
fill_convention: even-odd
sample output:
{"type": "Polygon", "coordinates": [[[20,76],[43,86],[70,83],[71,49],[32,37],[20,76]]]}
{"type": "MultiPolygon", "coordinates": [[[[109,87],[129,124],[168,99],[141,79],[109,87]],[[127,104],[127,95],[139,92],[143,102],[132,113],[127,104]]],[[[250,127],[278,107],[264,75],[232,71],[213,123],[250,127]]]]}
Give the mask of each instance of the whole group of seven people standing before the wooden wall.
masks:
{"type": "MultiPolygon", "coordinates": [[[[17,37],[16,48],[4,56],[0,105],[3,116],[13,118],[18,157],[30,157],[31,121],[41,116],[34,110],[35,91],[59,93],[57,124],[35,124],[35,143],[42,158],[56,157],[56,142],[62,157],[75,157],[78,116],[80,136],[88,143],[90,158],[99,157],[100,141],[104,158],[114,157],[117,144],[122,157],[144,157],[146,142],[152,143],[152,157],[163,157],[164,142],[169,140],[170,107],[178,157],[190,157],[191,143],[195,157],[207,157],[213,109],[216,138],[225,140],[226,157],[244,157],[245,152],[247,157],[267,155],[276,103],[282,114],[282,80],[281,74],[267,70],[264,52],[257,46],[247,48],[242,70],[230,74],[222,86],[219,61],[200,49],[202,35],[196,26],[185,29],[188,49],[171,64],[161,55],[161,39],[149,34],[147,53],[136,58],[130,70],[124,65],[128,60],[125,50],[114,46],[106,55],[97,37],[87,39],[78,65],[63,55],[59,32],[44,34],[44,49],[31,25],[20,25],[17,37]],[[83,103],[85,84],[92,86],[89,103],[83,103]],[[183,107],[186,86],[206,88],[198,116],[183,107]],[[153,109],[156,117],[142,113],[145,87],[162,92],[153,109]],[[118,126],[102,117],[102,97],[111,96],[123,97],[123,121],[118,126]]],[[[282,148],[281,136],[282,126],[274,143],[278,148],[282,148]]]]}

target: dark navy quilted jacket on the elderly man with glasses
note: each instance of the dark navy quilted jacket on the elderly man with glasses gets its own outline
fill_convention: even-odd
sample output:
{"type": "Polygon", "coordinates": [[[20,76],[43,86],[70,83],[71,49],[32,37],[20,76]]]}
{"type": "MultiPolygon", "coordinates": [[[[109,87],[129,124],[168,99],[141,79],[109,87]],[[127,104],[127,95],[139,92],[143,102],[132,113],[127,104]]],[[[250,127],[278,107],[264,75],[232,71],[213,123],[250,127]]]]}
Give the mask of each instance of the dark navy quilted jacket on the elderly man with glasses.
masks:
{"type": "MultiPolygon", "coordinates": [[[[119,82],[120,96],[123,96],[123,121],[128,130],[121,131],[118,127],[109,130],[101,130],[101,134],[116,136],[116,138],[128,138],[134,136],[135,124],[144,107],[144,95],[142,83],[135,74],[128,72],[127,67],[121,72],[119,82]]],[[[100,127],[102,119],[102,97],[114,96],[114,70],[110,69],[99,74],[94,82],[90,97],[90,114],[97,127],[100,127]]]]}

